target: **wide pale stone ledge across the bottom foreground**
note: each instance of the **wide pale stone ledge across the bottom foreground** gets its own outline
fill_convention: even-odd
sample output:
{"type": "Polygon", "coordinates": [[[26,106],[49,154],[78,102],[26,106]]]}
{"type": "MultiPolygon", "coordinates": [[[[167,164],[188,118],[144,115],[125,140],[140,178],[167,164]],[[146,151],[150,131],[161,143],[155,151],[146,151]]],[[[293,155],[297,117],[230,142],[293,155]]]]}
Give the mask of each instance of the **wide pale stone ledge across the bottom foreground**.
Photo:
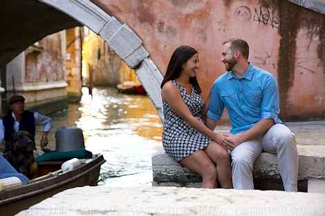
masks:
{"type": "Polygon", "coordinates": [[[73,188],[17,216],[325,215],[325,195],[175,187],[73,188]]]}

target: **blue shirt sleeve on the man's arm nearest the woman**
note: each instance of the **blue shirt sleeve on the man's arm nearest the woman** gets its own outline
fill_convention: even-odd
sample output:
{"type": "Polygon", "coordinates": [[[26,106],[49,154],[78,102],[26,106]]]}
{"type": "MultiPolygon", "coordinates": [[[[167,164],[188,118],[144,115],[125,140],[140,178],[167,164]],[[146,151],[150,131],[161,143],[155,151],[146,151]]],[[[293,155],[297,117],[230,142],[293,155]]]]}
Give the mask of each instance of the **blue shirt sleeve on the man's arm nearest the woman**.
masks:
{"type": "Polygon", "coordinates": [[[207,117],[214,121],[219,121],[221,119],[221,115],[223,113],[224,108],[225,106],[221,101],[218,88],[216,87],[216,84],[214,84],[210,97],[209,110],[207,110],[207,117]]]}

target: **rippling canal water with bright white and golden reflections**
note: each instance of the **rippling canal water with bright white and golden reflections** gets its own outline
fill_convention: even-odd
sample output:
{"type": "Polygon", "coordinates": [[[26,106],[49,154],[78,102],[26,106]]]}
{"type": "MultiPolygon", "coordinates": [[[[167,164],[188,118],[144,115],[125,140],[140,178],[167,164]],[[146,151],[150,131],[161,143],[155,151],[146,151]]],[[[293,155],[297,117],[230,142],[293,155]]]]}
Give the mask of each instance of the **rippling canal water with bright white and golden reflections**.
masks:
{"type": "Polygon", "coordinates": [[[120,94],[115,88],[94,88],[93,97],[86,88],[82,91],[80,104],[50,116],[49,143],[55,143],[54,132],[61,126],[82,128],[86,149],[106,159],[99,185],[151,185],[151,155],[163,151],[163,128],[149,97],[120,94]]]}

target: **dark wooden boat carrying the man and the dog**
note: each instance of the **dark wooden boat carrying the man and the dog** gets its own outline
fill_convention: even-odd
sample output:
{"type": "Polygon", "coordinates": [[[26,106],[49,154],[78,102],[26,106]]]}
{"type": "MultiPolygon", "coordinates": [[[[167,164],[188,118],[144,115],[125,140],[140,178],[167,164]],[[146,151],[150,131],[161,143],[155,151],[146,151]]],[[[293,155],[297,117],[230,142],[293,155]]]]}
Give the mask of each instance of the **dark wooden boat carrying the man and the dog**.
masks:
{"type": "Polygon", "coordinates": [[[15,215],[69,188],[95,186],[100,176],[100,166],[105,159],[102,155],[93,155],[92,159],[82,159],[82,165],[66,173],[61,170],[63,162],[40,162],[39,173],[45,175],[31,179],[28,184],[19,188],[1,190],[0,215],[15,215]]]}

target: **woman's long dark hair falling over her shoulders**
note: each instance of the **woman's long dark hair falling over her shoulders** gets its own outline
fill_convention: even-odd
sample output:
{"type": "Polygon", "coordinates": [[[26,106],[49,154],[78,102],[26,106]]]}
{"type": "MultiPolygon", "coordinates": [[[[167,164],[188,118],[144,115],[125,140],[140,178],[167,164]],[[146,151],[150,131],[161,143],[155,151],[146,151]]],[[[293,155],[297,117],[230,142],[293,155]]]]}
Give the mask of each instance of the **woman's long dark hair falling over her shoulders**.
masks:
{"type": "MultiPolygon", "coordinates": [[[[196,55],[196,53],[198,53],[198,51],[190,46],[179,46],[178,48],[176,48],[173,55],[171,55],[167,71],[160,85],[160,88],[163,88],[167,81],[180,77],[180,74],[182,73],[183,64],[186,63],[189,59],[191,59],[194,55],[196,55]]],[[[196,77],[190,77],[189,83],[194,86],[198,93],[201,93],[201,88],[198,85],[196,77]]]]}

